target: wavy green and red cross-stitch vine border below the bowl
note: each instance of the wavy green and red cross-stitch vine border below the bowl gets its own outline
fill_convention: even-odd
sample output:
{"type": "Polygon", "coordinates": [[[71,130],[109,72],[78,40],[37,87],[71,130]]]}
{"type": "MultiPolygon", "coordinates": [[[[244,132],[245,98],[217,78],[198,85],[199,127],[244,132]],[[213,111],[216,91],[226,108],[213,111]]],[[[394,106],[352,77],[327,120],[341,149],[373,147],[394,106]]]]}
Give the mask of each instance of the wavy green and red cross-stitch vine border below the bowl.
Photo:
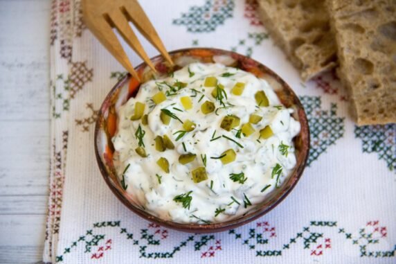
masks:
{"type": "Polygon", "coordinates": [[[139,232],[133,234],[127,228],[121,227],[120,221],[108,221],[94,223],[92,229],[88,229],[85,234],[64,248],[62,254],[56,257],[56,262],[63,262],[64,258],[77,250],[77,247],[82,247],[85,254],[90,254],[91,259],[102,258],[114,243],[112,238],[107,237],[111,234],[112,236],[123,236],[126,240],[130,240],[131,250],[138,249],[140,258],[173,258],[177,252],[181,252],[181,249],[187,247],[193,249],[194,252],[200,251],[201,258],[213,257],[216,252],[222,250],[222,240],[219,238],[224,238],[224,236],[231,236],[236,242],[240,241],[243,246],[242,249],[252,250],[256,257],[282,256],[294,244],[301,245],[303,249],[309,250],[310,256],[321,256],[332,248],[331,238],[325,236],[324,233],[325,231],[330,233],[330,229],[333,236],[341,234],[342,238],[350,242],[352,248],[359,250],[360,257],[390,258],[395,256],[396,245],[393,250],[370,250],[370,247],[379,245],[381,240],[384,240],[387,236],[386,227],[379,226],[378,220],[367,222],[366,226],[355,233],[346,232],[344,228],[339,228],[337,222],[334,221],[311,221],[309,225],[289,238],[287,243],[279,249],[269,247],[271,243],[275,243],[277,231],[276,227],[273,227],[267,221],[256,222],[255,228],[231,229],[228,233],[186,235],[171,249],[169,249],[169,243],[163,241],[168,238],[168,230],[159,225],[150,223],[147,229],[140,229],[139,232]],[[110,231],[111,229],[113,230],[110,231]],[[161,245],[166,245],[168,251],[163,248],[159,249],[161,245]]]}

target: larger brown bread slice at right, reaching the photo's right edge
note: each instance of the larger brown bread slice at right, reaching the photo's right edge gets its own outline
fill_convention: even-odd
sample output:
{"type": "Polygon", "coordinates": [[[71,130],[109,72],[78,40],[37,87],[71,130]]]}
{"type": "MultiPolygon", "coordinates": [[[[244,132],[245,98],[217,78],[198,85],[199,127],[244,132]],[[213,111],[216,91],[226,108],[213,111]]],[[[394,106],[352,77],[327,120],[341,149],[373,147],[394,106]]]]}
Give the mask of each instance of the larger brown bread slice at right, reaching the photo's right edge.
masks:
{"type": "Polygon", "coordinates": [[[358,125],[396,122],[396,0],[327,0],[358,125]]]}

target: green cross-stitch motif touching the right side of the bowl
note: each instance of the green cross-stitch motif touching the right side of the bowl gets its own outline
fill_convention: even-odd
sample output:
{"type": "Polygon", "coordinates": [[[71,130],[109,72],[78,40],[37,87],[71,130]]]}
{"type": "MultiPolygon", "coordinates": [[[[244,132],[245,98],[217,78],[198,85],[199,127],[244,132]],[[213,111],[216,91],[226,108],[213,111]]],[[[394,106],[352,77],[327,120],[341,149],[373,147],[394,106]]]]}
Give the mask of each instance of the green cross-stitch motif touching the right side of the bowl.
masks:
{"type": "Polygon", "coordinates": [[[311,146],[307,164],[335,144],[337,139],[344,134],[344,118],[336,115],[337,105],[332,103],[329,110],[321,109],[321,98],[319,96],[301,96],[300,101],[305,108],[311,134],[311,146]]]}

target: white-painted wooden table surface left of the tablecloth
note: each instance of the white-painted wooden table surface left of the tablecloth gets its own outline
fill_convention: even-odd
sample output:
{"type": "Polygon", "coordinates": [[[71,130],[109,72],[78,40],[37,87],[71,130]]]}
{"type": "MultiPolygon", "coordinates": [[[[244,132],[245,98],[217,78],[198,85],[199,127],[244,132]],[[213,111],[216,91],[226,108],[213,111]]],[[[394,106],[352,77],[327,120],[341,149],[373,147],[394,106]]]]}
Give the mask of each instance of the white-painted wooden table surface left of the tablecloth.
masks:
{"type": "Polygon", "coordinates": [[[0,0],[0,263],[42,259],[50,6],[49,0],[0,0]]]}

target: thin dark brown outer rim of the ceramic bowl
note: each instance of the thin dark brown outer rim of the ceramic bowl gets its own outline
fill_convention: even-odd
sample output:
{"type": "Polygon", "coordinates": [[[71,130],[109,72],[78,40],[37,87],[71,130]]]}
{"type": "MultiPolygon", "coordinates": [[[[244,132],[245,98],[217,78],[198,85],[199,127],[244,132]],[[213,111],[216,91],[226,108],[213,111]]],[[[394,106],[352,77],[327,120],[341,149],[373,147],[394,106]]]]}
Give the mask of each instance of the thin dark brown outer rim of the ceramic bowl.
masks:
{"type": "MultiPolygon", "coordinates": [[[[131,75],[129,73],[127,73],[127,75],[125,77],[123,77],[121,80],[118,80],[116,85],[114,85],[114,87],[111,88],[111,90],[109,91],[109,93],[107,94],[105,99],[102,101],[102,104],[98,111],[98,119],[97,119],[96,125],[95,125],[94,148],[95,148],[96,161],[98,162],[99,170],[100,170],[100,173],[102,174],[103,179],[105,179],[107,186],[109,186],[110,190],[114,193],[114,195],[116,195],[118,200],[120,200],[120,202],[125,204],[125,206],[127,206],[128,209],[130,209],[131,211],[133,211],[134,213],[136,213],[137,215],[139,215],[141,218],[143,218],[145,220],[155,222],[156,224],[159,224],[163,227],[168,227],[170,229],[175,229],[178,231],[184,231],[184,232],[188,232],[188,233],[200,233],[200,234],[215,233],[215,232],[221,232],[221,231],[226,231],[226,230],[233,229],[236,227],[240,227],[241,225],[245,225],[249,222],[252,222],[253,220],[256,220],[257,218],[260,218],[262,215],[269,213],[269,211],[271,211],[273,208],[278,206],[278,204],[280,204],[280,202],[285,200],[285,197],[287,197],[287,195],[289,195],[289,193],[291,193],[291,191],[296,186],[297,182],[300,180],[300,177],[303,175],[303,171],[304,171],[305,167],[307,166],[307,159],[309,156],[309,146],[310,146],[309,126],[308,126],[308,121],[307,121],[307,115],[305,114],[305,109],[304,109],[303,105],[300,103],[300,100],[299,100],[298,96],[296,96],[296,94],[294,93],[293,89],[291,89],[291,87],[287,84],[287,82],[285,82],[285,80],[280,78],[280,76],[278,76],[277,73],[275,73],[274,71],[269,69],[267,66],[265,66],[261,62],[253,60],[251,58],[248,58],[245,55],[242,55],[240,53],[235,53],[233,51],[226,51],[223,49],[205,48],[205,47],[177,49],[174,51],[170,51],[169,54],[172,55],[174,53],[185,53],[187,51],[192,51],[192,50],[208,50],[208,51],[219,52],[222,54],[228,53],[229,55],[236,55],[238,57],[252,60],[253,62],[257,63],[260,67],[264,68],[265,73],[268,73],[271,77],[275,78],[280,83],[280,85],[282,85],[282,89],[289,90],[291,95],[294,97],[294,104],[298,105],[299,109],[302,110],[302,111],[299,111],[297,114],[299,117],[299,123],[301,125],[300,134],[301,134],[302,139],[305,141],[303,143],[303,147],[301,149],[301,152],[303,152],[303,155],[305,155],[305,158],[302,160],[301,164],[296,164],[296,168],[300,168],[300,169],[296,170],[293,175],[289,175],[289,181],[292,178],[294,179],[294,182],[292,182],[290,184],[289,188],[285,189],[282,193],[280,193],[279,197],[277,197],[277,199],[269,206],[265,206],[262,209],[258,209],[256,211],[254,211],[253,213],[248,213],[247,215],[243,215],[240,218],[235,218],[233,220],[228,220],[226,222],[210,223],[207,225],[179,223],[179,222],[163,220],[161,218],[158,218],[158,217],[152,215],[151,213],[148,213],[147,211],[144,211],[144,210],[139,209],[138,207],[134,206],[134,204],[129,202],[127,200],[127,198],[122,193],[120,193],[116,188],[114,188],[113,184],[111,184],[109,175],[107,173],[106,166],[105,166],[105,164],[102,163],[102,159],[100,157],[100,154],[99,154],[100,152],[98,150],[98,144],[97,144],[98,134],[100,131],[100,118],[103,115],[102,109],[105,105],[105,102],[107,102],[107,100],[109,100],[111,98],[111,96],[113,96],[114,93],[118,89],[120,89],[120,87],[123,87],[123,85],[125,85],[127,80],[129,80],[129,78],[131,78],[131,75]]],[[[156,56],[150,58],[150,60],[152,60],[152,61],[157,60],[161,57],[162,57],[162,55],[156,55],[156,56]]],[[[140,69],[141,67],[145,67],[145,62],[138,64],[138,66],[135,67],[135,69],[140,69]]]]}

